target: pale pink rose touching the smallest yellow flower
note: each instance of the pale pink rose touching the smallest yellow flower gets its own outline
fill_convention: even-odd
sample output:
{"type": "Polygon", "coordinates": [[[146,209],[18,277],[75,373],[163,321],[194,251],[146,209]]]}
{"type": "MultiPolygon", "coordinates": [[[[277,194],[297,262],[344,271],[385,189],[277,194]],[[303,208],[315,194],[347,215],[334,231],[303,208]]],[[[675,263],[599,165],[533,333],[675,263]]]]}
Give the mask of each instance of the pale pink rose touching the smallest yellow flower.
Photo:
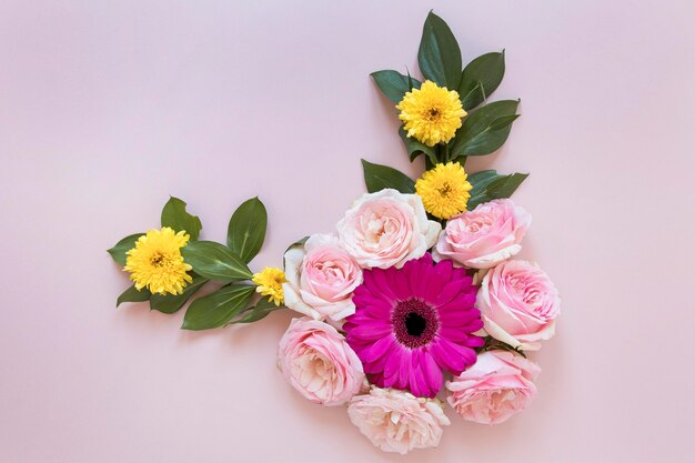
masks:
{"type": "Polygon", "coordinates": [[[338,321],[355,312],[352,292],[362,283],[362,269],[336,236],[314,234],[285,252],[284,263],[286,306],[315,320],[338,321]]]}

